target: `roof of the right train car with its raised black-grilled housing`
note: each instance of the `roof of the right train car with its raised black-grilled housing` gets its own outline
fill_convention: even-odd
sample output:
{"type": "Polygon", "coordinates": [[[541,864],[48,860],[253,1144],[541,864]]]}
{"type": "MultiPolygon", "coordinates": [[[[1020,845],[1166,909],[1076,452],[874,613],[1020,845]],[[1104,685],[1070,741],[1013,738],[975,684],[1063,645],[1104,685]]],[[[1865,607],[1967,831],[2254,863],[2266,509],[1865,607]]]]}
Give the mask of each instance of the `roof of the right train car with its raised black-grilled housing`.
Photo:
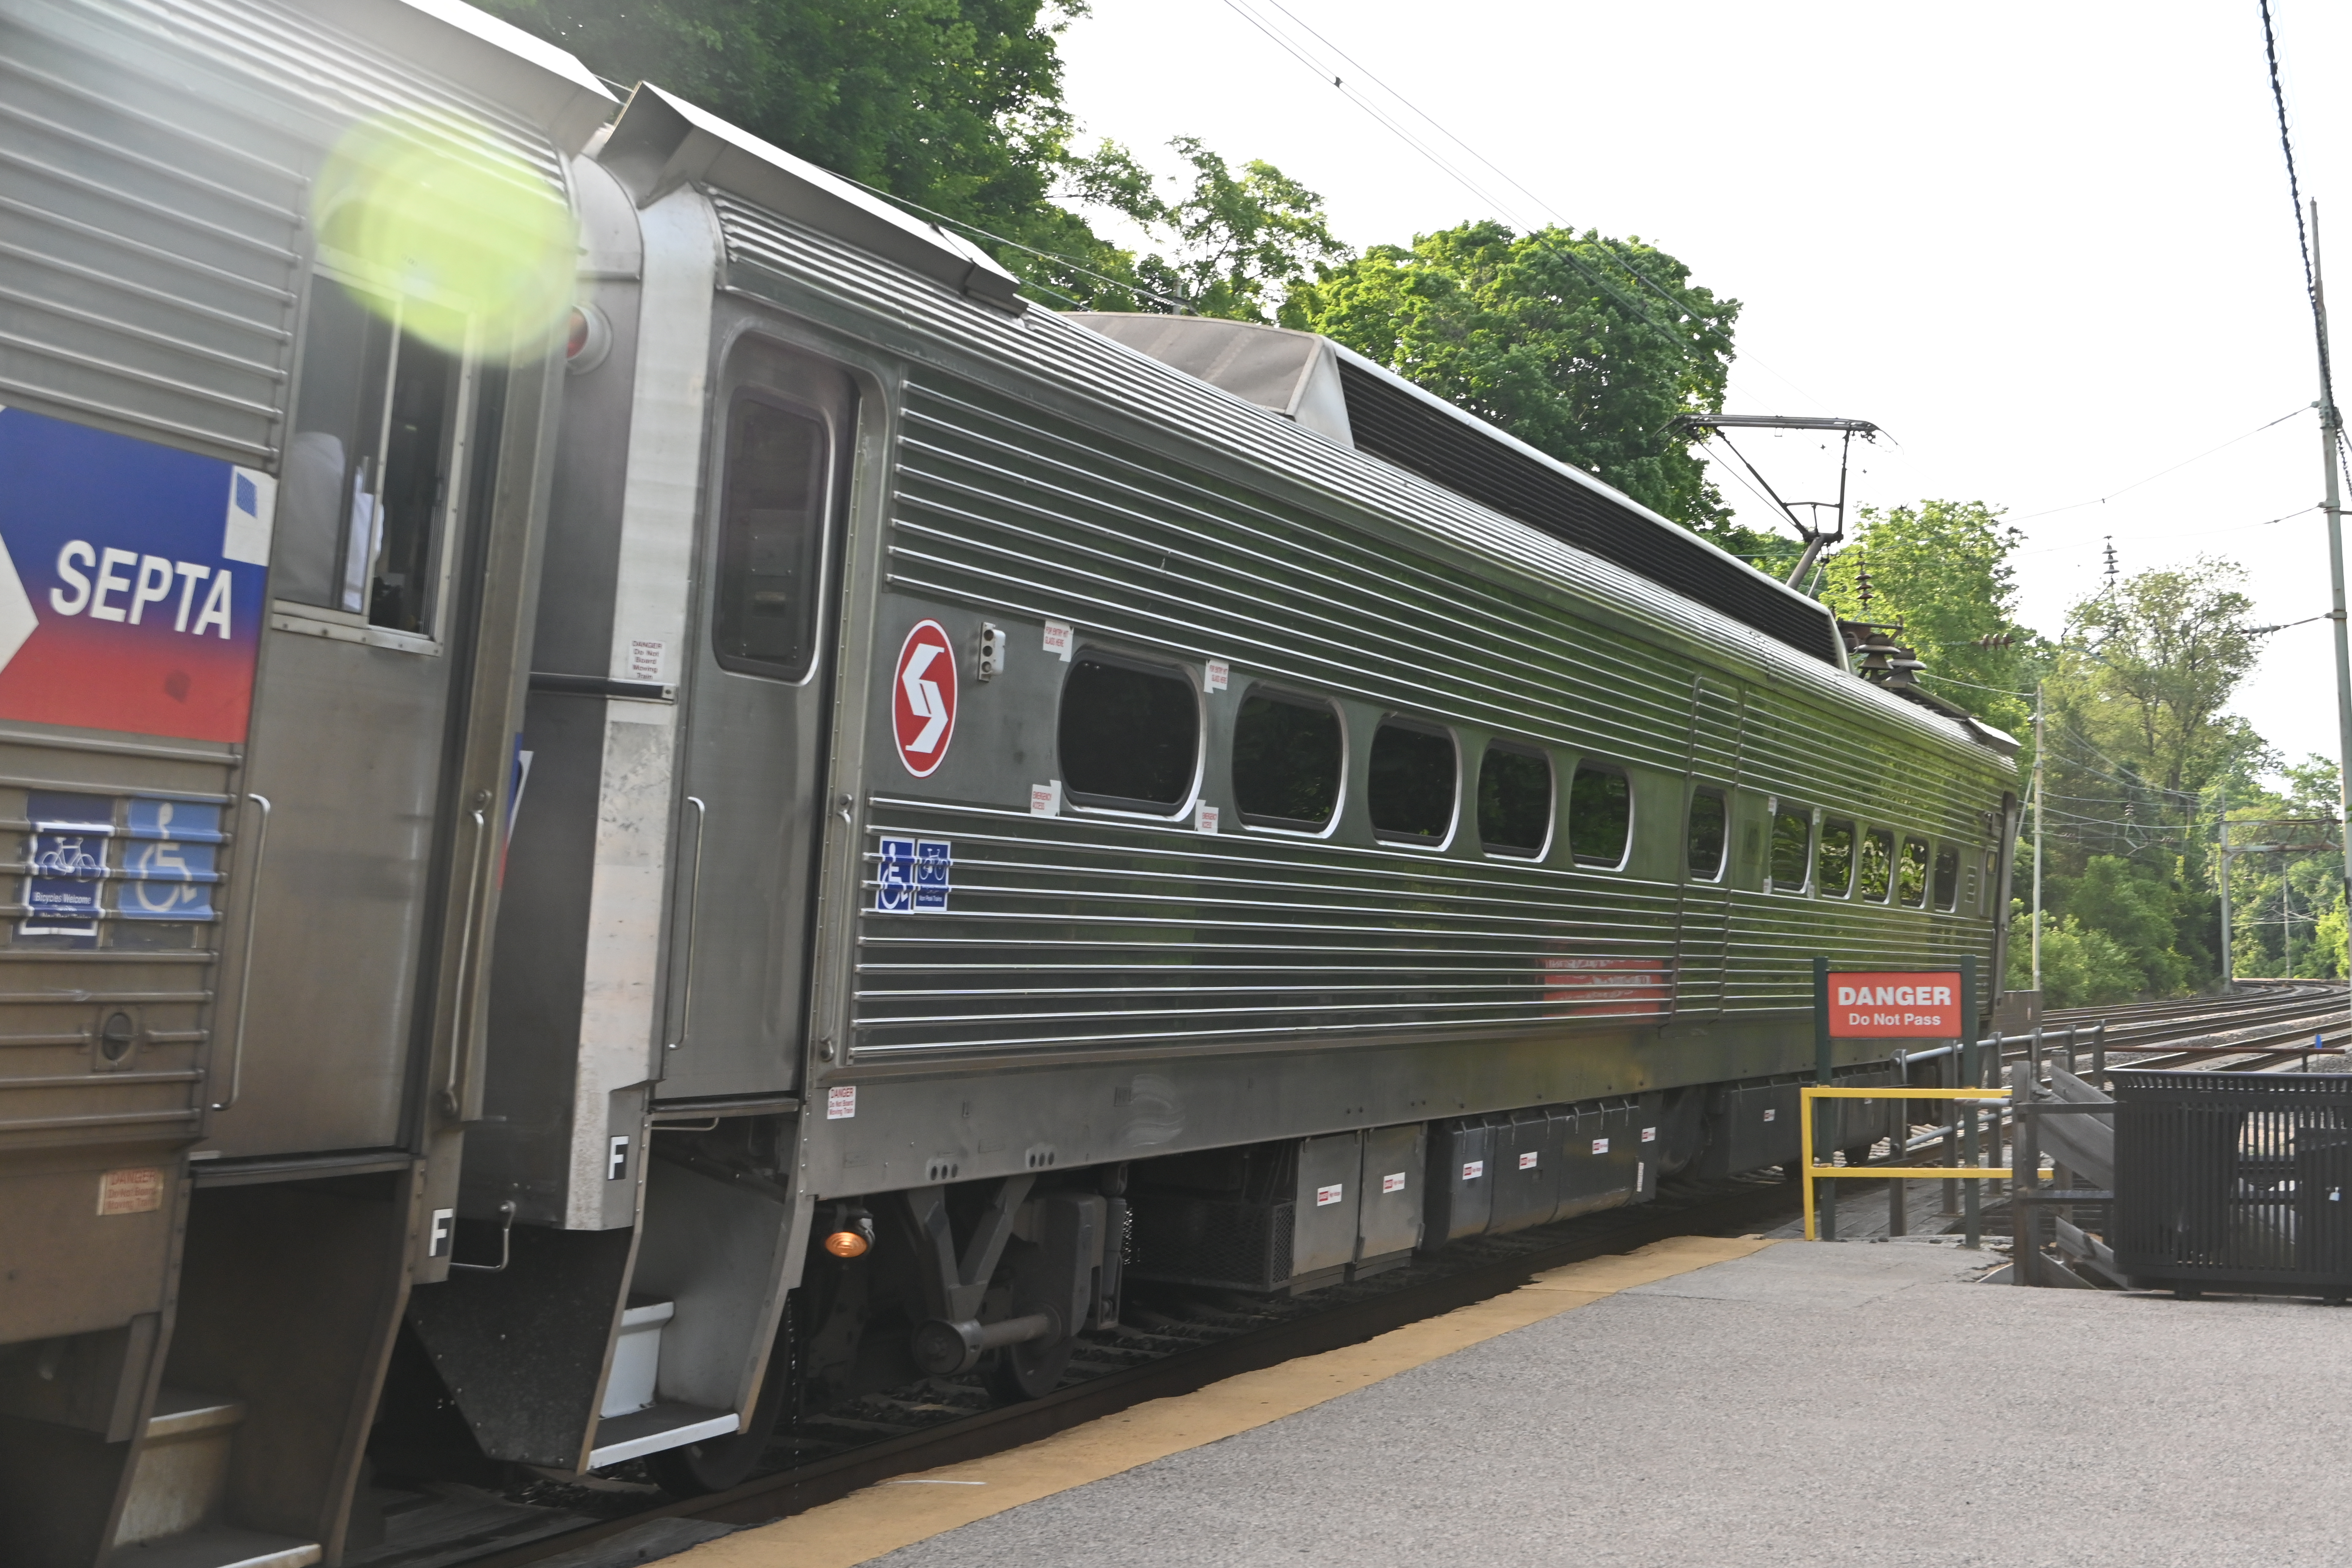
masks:
{"type": "MultiPolygon", "coordinates": [[[[1851,675],[1828,607],[1336,343],[1240,324],[1244,336],[1310,346],[1298,350],[1298,374],[1319,383],[1294,381],[1268,402],[1225,390],[1105,336],[1091,327],[1096,317],[1028,310],[1007,287],[1016,280],[985,256],[974,261],[974,247],[654,85],[630,96],[593,155],[640,207],[684,183],[703,188],[724,242],[722,282],[771,292],[762,280],[774,277],[814,289],[917,360],[941,348],[969,353],[1040,393],[1056,388],[1049,402],[1075,395],[1120,409],[1430,543],[1715,646],[1757,675],[1870,708],[1919,738],[1987,759],[2002,752],[1983,726],[1851,675]],[[844,266],[844,244],[896,266],[844,266]],[[1310,357],[1327,376],[1305,364],[1310,357]],[[1345,421],[1345,440],[1317,428],[1334,418],[1345,421]]],[[[1183,317],[1112,324],[1169,320],[1183,317]]],[[[1279,383],[1279,367],[1270,376],[1279,383]]]]}

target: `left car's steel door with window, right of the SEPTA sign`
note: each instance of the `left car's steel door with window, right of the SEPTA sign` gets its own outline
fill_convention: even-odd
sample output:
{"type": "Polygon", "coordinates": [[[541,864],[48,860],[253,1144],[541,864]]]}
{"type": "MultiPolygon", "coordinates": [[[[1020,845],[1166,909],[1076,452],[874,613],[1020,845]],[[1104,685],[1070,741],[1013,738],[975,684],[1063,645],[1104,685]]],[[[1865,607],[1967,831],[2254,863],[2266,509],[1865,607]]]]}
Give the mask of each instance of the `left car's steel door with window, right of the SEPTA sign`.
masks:
{"type": "MultiPolygon", "coordinates": [[[[240,959],[240,1088],[221,1157],[409,1140],[419,980],[435,867],[487,860],[494,823],[459,811],[454,693],[470,658],[459,562],[475,473],[494,463],[499,381],[473,322],[320,266],[278,487],[256,835],[240,959]]],[[[482,802],[475,802],[480,806],[482,802]]]]}

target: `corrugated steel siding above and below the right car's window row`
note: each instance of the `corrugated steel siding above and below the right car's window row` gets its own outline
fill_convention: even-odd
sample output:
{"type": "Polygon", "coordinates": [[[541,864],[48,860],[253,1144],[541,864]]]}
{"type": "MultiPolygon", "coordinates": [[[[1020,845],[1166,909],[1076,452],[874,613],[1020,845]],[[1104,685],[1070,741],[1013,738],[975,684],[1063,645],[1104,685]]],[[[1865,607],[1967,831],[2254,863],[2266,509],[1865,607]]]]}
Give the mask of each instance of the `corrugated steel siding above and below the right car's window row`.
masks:
{"type": "MultiPolygon", "coordinates": [[[[1014,616],[1682,773],[1693,682],[1745,677],[1740,783],[1976,844],[2004,764],[1752,628],[1051,317],[976,310],[715,195],[739,282],[847,299],[920,355],[889,581],[1014,616]],[[755,268],[755,270],[753,270],[755,268]],[[1294,484],[1235,484],[1105,423],[983,386],[985,364],[1174,428],[1294,484]],[[962,371],[962,374],[957,374],[962,371]],[[1404,527],[1362,527],[1362,515],[1404,527]],[[1590,611],[1644,623],[1630,637],[1590,611]],[[1578,614],[1585,611],[1585,614],[1578,614]]],[[[1705,769],[1708,764],[1703,764],[1705,769]]],[[[1677,959],[1679,886],[1176,823],[1033,818],[877,797],[870,830],[955,839],[953,912],[861,917],[851,1056],[1171,1048],[1249,1039],[1623,1027],[1545,959],[1677,959]]],[[[868,898],[870,903],[870,898],[868,898]]],[[[1985,922],[1733,896],[1736,936],[1682,983],[1733,1009],[1809,1001],[1811,954],[1886,966],[1990,952],[1985,922]],[[1752,936],[1750,936],[1752,933],[1752,936]],[[1722,964],[1722,973],[1710,973],[1722,964]]]]}

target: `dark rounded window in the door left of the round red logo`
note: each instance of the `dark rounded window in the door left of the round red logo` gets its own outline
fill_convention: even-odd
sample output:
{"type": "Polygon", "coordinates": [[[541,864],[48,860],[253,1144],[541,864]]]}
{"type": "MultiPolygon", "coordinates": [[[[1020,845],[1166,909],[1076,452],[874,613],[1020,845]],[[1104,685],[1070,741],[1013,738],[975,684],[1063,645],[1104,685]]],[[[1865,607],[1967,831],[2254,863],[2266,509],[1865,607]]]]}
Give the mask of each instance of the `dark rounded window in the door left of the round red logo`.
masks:
{"type": "Polygon", "coordinates": [[[833,442],[811,409],[739,393],[727,414],[713,654],[722,670],[807,679],[833,442]]]}

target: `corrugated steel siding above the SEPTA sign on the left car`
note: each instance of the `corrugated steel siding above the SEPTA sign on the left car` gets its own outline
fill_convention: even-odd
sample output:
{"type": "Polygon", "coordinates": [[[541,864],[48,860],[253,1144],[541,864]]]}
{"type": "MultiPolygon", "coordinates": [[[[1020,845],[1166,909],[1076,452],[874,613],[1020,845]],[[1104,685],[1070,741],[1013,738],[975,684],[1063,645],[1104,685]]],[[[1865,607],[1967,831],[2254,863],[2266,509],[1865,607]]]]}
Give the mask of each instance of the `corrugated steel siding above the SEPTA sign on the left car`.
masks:
{"type": "Polygon", "coordinates": [[[367,118],[532,125],[296,9],[0,0],[0,402],[275,465],[310,179],[367,118]]]}

